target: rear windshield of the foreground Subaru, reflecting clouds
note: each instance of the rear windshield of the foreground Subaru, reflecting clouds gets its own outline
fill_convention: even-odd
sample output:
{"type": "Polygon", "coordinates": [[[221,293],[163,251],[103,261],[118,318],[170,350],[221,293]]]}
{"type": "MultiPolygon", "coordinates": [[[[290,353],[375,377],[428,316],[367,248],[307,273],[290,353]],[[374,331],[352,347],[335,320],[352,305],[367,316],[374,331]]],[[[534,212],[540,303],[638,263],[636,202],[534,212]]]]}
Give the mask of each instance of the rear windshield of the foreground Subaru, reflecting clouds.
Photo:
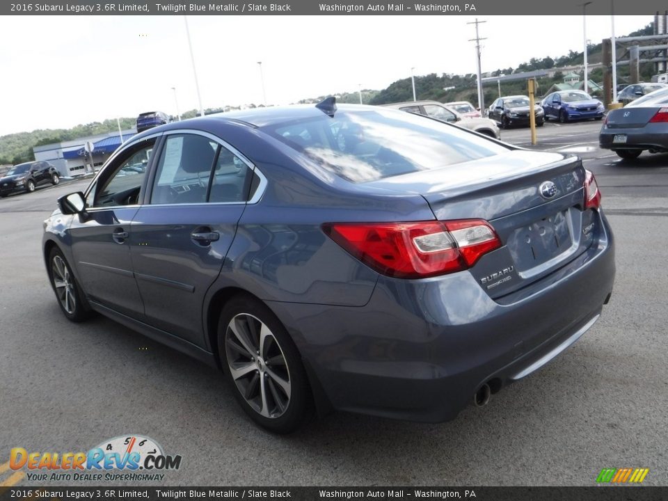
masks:
{"type": "Polygon", "coordinates": [[[350,182],[432,170],[507,152],[509,147],[454,125],[401,111],[324,113],[262,127],[350,182]]]}

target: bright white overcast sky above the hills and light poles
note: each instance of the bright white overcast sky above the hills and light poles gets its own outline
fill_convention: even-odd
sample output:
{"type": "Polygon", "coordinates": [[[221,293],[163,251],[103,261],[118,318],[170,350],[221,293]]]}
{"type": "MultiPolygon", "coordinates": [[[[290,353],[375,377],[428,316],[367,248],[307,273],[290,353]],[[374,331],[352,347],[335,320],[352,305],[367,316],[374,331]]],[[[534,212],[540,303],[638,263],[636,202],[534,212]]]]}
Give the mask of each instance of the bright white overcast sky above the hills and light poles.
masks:
{"type": "MultiPolygon", "coordinates": [[[[382,89],[415,74],[476,72],[464,16],[188,17],[202,106],[382,89]]],[[[582,51],[582,16],[481,17],[482,71],[582,51]],[[554,29],[551,29],[552,26],[554,29]],[[567,29],[564,29],[564,26],[567,29]]],[[[615,34],[653,16],[617,16],[615,34]]],[[[611,34],[587,16],[587,38],[611,34]]],[[[0,17],[0,135],[198,108],[182,15],[0,17]]],[[[419,89],[418,89],[419,91],[419,89]]]]}

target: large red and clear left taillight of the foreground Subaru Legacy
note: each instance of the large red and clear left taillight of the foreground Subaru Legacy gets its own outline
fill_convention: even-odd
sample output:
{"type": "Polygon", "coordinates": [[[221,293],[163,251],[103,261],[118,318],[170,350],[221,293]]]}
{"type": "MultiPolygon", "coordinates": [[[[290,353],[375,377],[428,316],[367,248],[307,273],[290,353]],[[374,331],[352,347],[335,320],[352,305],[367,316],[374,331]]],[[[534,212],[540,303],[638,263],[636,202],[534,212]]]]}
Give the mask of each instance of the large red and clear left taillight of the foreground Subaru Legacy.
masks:
{"type": "Polygon", "coordinates": [[[326,223],[324,232],[383,275],[424,278],[461,271],[499,248],[482,219],[417,223],[326,223]]]}

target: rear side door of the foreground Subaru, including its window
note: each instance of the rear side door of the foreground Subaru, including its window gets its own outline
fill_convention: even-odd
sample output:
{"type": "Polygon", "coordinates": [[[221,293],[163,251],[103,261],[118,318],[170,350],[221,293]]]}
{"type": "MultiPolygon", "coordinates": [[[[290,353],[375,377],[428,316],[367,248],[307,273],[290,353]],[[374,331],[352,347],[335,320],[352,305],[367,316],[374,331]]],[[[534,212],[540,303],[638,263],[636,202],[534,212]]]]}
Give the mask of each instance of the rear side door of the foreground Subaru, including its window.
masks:
{"type": "Polygon", "coordinates": [[[166,133],[132,221],[132,262],[148,323],[203,346],[202,303],[246,207],[253,166],[216,136],[166,133]]]}

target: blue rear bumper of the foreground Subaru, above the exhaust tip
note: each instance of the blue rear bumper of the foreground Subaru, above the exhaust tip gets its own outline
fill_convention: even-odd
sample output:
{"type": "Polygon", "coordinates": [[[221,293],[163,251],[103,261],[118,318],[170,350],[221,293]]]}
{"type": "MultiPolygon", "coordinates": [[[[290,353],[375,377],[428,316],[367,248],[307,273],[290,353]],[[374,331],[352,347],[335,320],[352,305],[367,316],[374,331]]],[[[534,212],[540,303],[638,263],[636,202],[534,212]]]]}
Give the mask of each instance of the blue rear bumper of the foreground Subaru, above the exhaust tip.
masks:
{"type": "Polygon", "coordinates": [[[601,313],[614,282],[612,233],[541,280],[539,292],[491,299],[468,271],[426,280],[381,278],[360,308],[274,303],[334,408],[405,420],[452,419],[539,369],[601,313]],[[573,269],[568,269],[571,267],[573,269]]]}

